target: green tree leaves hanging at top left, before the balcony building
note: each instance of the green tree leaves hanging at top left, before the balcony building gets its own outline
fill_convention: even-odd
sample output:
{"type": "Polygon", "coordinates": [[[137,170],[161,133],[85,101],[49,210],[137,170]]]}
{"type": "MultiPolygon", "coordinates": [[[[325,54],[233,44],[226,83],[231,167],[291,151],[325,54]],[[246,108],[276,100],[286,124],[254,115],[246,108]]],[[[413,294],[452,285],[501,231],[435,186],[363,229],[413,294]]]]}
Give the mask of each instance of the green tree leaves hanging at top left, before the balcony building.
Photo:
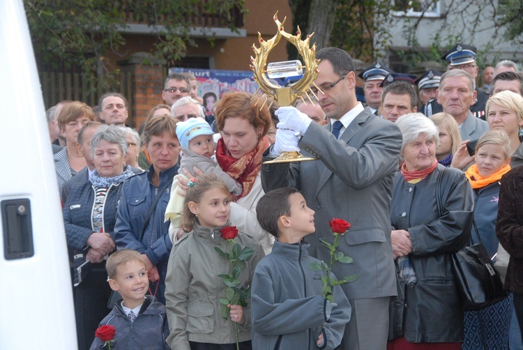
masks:
{"type": "Polygon", "coordinates": [[[114,68],[107,54],[119,54],[128,24],[149,26],[153,56],[172,64],[194,45],[190,28],[200,13],[219,15],[220,24],[236,30],[232,11],[245,12],[244,0],[24,0],[24,6],[34,50],[44,63],[80,67],[103,84],[114,68]]]}

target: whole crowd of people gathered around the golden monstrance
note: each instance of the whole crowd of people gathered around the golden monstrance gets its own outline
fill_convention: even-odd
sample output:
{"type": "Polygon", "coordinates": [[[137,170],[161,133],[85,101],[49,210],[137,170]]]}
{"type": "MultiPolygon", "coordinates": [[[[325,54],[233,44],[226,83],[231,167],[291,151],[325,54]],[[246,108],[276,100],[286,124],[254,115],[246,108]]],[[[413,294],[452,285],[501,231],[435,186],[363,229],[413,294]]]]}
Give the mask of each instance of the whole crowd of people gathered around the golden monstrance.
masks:
{"type": "Polygon", "coordinates": [[[199,98],[174,73],[139,131],[119,93],[47,111],[79,349],[102,349],[105,325],[111,349],[523,349],[515,63],[477,87],[469,45],[420,77],[317,59],[294,106],[199,98]],[[316,160],[265,163],[285,151],[316,160]],[[508,294],[469,311],[450,260],[478,239],[508,294]],[[326,294],[310,266],[328,245],[351,260],[330,273],[357,277],[326,294]]]}

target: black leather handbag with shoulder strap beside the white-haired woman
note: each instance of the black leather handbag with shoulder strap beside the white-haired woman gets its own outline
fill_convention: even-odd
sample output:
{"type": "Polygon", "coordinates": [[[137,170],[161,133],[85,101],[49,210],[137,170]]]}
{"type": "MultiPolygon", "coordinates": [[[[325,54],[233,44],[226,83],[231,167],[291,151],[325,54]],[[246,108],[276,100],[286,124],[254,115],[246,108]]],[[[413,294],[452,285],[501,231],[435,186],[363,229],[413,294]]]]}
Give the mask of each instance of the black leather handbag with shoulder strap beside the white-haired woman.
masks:
{"type": "MultiPolygon", "coordinates": [[[[437,181],[436,202],[439,215],[443,215],[441,209],[441,178],[444,171],[441,171],[437,181]]],[[[506,291],[503,290],[503,283],[498,271],[494,268],[487,250],[479,235],[476,222],[472,225],[479,243],[464,247],[452,254],[452,267],[457,290],[462,298],[464,310],[479,310],[497,303],[506,298],[506,291]]]]}

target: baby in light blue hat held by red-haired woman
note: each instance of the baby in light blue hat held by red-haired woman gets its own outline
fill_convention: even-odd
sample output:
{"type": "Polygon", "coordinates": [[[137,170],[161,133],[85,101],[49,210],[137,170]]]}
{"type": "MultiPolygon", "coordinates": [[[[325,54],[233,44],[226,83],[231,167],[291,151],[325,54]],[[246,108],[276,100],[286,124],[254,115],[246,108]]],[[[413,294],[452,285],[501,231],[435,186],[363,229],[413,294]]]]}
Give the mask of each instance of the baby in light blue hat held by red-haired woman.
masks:
{"type": "Polygon", "coordinates": [[[227,185],[229,192],[233,195],[240,195],[241,185],[236,183],[236,180],[222,171],[220,167],[213,160],[214,155],[214,132],[209,123],[201,117],[189,118],[187,121],[180,121],[176,123],[176,136],[180,142],[180,149],[182,157],[180,160],[180,169],[178,175],[174,176],[174,181],[171,187],[171,198],[167,209],[165,210],[165,221],[171,220],[169,227],[169,236],[173,243],[176,241],[176,234],[180,228],[180,213],[183,205],[184,196],[179,192],[183,192],[179,187],[179,178],[185,176],[183,169],[192,172],[194,167],[202,170],[204,174],[214,173],[227,185]]]}

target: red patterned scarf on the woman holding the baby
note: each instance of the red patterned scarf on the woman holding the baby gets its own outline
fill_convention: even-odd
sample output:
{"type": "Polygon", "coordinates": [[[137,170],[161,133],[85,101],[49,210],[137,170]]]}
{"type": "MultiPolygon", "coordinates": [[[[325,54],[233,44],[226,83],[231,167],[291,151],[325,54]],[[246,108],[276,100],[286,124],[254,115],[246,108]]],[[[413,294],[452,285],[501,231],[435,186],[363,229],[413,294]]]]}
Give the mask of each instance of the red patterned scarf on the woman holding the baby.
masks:
{"type": "Polygon", "coordinates": [[[266,136],[261,137],[255,149],[246,153],[240,159],[236,159],[232,157],[223,139],[218,139],[216,160],[222,170],[236,179],[242,188],[239,196],[232,195],[233,201],[245,197],[252,190],[256,176],[259,173],[259,169],[261,169],[261,158],[263,158],[264,151],[268,149],[268,146],[271,146],[268,138],[266,136]]]}

